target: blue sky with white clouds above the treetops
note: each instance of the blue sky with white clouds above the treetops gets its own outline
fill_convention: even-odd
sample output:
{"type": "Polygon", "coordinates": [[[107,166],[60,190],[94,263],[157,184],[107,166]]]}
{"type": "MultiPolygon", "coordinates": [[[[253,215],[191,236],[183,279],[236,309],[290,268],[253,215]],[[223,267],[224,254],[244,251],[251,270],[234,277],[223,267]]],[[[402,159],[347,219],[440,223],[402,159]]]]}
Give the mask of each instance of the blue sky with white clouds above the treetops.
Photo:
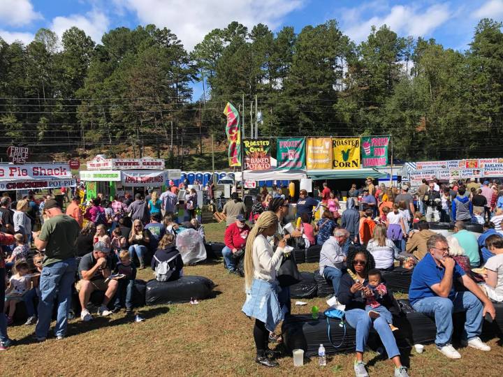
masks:
{"type": "MultiPolygon", "coordinates": [[[[80,27],[99,43],[115,27],[168,27],[191,50],[214,28],[234,20],[273,31],[337,20],[345,34],[364,40],[370,27],[387,24],[401,36],[435,38],[444,47],[465,50],[483,17],[503,20],[503,0],[0,0],[0,36],[29,43],[47,27],[61,36],[80,27]]],[[[200,89],[195,87],[195,97],[200,89]]]]}

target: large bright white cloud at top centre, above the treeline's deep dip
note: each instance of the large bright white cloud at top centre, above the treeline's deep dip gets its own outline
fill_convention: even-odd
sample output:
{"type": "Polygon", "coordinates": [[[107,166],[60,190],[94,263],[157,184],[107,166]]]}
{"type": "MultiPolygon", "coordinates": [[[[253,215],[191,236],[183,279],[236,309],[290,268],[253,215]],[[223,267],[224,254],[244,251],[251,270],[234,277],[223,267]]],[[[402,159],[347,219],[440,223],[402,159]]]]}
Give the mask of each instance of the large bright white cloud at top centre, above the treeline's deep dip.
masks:
{"type": "Polygon", "coordinates": [[[306,0],[114,0],[132,10],[144,24],[167,27],[187,50],[201,42],[215,28],[233,21],[247,27],[259,22],[276,29],[285,15],[300,8],[306,0]]]}

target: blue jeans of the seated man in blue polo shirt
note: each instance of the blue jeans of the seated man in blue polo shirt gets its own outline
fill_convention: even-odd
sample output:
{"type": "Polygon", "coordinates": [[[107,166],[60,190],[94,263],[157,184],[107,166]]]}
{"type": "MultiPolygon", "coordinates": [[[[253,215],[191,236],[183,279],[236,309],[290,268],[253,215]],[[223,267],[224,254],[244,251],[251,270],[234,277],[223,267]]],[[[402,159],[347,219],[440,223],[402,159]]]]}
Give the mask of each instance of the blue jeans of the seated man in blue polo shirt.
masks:
{"type": "Polygon", "coordinates": [[[451,343],[453,313],[466,311],[465,331],[462,334],[463,340],[478,337],[482,331],[483,305],[471,292],[456,293],[454,301],[444,297],[425,297],[412,307],[415,311],[427,316],[435,316],[435,325],[437,325],[435,344],[438,347],[451,343]]]}

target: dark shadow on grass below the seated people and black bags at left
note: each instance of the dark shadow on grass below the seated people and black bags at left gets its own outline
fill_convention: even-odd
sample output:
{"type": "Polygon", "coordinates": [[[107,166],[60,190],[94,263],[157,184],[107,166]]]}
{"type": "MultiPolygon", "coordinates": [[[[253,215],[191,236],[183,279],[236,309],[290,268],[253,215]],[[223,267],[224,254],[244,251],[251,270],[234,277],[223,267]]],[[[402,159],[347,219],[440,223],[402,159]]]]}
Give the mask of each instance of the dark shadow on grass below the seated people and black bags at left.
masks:
{"type": "MultiPolygon", "coordinates": [[[[66,338],[74,337],[79,334],[83,334],[85,332],[92,332],[94,330],[99,330],[103,327],[112,327],[118,325],[125,325],[126,323],[133,323],[135,321],[136,313],[143,319],[148,320],[150,318],[154,318],[155,316],[159,316],[161,314],[166,314],[170,311],[168,306],[159,306],[150,309],[148,306],[143,306],[135,310],[135,314],[129,316],[122,316],[120,318],[110,319],[110,317],[98,317],[95,316],[93,320],[89,322],[82,322],[77,320],[72,323],[68,323],[68,330],[66,338]]],[[[115,315],[117,316],[117,315],[115,315]]],[[[113,316],[112,316],[113,318],[113,316]]],[[[50,333],[52,331],[50,330],[50,333]]],[[[34,339],[34,334],[29,334],[24,338],[17,339],[17,344],[29,344],[36,343],[34,339]]]]}

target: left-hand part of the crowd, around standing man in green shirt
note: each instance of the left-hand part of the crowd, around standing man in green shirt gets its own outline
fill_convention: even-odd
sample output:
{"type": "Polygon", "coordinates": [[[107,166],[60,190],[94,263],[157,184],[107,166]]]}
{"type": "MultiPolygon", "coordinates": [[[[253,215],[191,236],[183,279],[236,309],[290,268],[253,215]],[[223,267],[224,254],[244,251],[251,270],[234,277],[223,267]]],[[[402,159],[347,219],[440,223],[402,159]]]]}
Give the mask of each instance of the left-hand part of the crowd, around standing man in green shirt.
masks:
{"type": "Polygon", "coordinates": [[[104,293],[99,316],[122,309],[133,313],[136,271],[147,263],[159,281],[179,279],[184,263],[176,248],[177,234],[191,228],[204,242],[205,233],[194,212],[196,191],[187,189],[183,204],[178,191],[177,186],[168,186],[161,195],[150,191],[144,198],[136,193],[132,200],[126,193],[111,201],[99,193],[85,204],[75,191],[65,212],[50,195],[36,200],[30,193],[14,205],[4,195],[0,199],[0,302],[5,315],[0,314],[0,350],[13,345],[7,326],[13,323],[20,302],[28,315],[25,325],[36,325],[36,341],[48,338],[55,304],[54,337],[63,339],[73,314],[73,292],[78,295],[80,319],[89,321],[93,317],[88,303],[96,290],[104,293]],[[180,205],[191,220],[178,224],[174,220],[180,205]],[[38,225],[41,230],[34,231],[38,225]],[[31,252],[31,242],[36,253],[31,252]]]}

